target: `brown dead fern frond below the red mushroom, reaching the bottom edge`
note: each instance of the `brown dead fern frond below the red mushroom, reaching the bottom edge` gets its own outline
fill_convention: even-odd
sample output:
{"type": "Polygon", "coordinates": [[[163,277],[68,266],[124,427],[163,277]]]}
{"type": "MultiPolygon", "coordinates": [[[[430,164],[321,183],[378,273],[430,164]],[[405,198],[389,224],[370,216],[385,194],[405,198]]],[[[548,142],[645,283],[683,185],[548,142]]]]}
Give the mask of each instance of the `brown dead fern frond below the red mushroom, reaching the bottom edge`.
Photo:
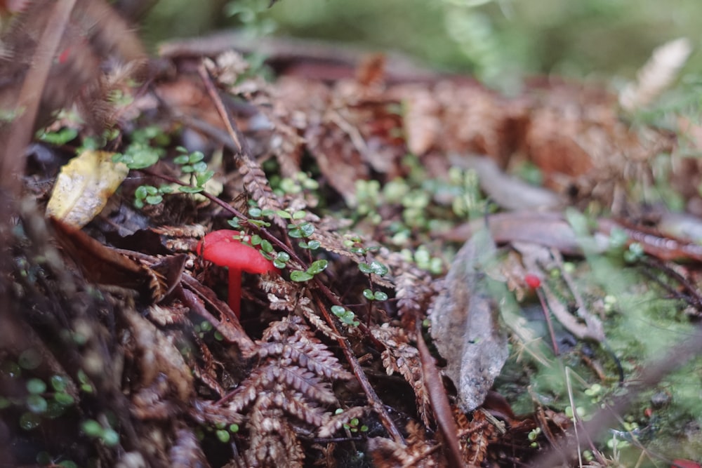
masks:
{"type": "Polygon", "coordinates": [[[246,466],[302,466],[298,433],[331,436],[362,414],[362,408],[334,416],[328,410],[338,406],[331,381],[353,375],[299,316],[271,323],[257,345],[260,362],[249,377],[217,403],[195,401],[192,415],[208,424],[247,421],[246,466]]]}

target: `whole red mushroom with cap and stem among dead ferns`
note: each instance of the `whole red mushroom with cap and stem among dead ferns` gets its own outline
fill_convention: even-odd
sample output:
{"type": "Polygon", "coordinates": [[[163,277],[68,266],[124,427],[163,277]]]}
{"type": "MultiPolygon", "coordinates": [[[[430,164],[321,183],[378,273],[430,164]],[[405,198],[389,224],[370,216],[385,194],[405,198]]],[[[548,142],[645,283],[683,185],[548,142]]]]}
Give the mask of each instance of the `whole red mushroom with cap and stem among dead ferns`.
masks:
{"type": "Polygon", "coordinates": [[[229,267],[229,307],[239,316],[241,302],[241,272],[278,273],[273,262],[261,255],[258,249],[241,243],[234,236],[239,231],[222,229],[213,231],[197,244],[197,254],[220,267],[229,267]]]}

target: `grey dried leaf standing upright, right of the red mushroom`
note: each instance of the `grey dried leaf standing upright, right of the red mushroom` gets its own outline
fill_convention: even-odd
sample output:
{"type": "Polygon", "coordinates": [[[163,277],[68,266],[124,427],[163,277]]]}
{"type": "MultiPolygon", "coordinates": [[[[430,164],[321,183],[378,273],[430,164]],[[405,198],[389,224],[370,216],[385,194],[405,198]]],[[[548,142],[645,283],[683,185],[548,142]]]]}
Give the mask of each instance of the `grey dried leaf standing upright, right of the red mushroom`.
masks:
{"type": "Polygon", "coordinates": [[[508,357],[507,335],[484,272],[495,251],[489,233],[476,232],[458,251],[430,314],[432,337],[465,412],[482,404],[508,357]]]}

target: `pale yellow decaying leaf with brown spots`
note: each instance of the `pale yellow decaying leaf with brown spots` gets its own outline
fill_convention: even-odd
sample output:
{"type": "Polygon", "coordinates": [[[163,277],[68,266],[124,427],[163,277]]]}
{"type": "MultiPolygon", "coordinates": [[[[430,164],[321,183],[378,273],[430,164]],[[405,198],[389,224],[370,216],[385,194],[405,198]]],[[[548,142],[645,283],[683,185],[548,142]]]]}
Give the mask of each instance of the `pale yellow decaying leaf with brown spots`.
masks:
{"type": "Polygon", "coordinates": [[[61,168],[46,215],[84,227],[105,208],[129,169],[112,161],[112,153],[87,150],[61,168]]]}

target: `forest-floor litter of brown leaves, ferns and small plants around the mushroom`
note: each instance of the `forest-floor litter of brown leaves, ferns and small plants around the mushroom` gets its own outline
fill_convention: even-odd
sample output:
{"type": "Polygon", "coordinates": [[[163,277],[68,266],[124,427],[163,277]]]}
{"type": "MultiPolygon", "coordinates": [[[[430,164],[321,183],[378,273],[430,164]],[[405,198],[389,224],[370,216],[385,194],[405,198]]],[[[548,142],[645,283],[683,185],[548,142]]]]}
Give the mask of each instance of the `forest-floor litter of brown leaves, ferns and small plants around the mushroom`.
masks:
{"type": "MultiPolygon", "coordinates": [[[[98,36],[110,27],[98,23],[98,36]]],[[[7,40],[22,47],[14,31],[7,40]]],[[[138,69],[143,54],[127,39],[117,55],[138,69]]],[[[94,141],[107,121],[120,138],[103,142],[117,156],[102,172],[63,167],[84,182],[58,176],[48,225],[26,200],[32,178],[55,174],[27,165],[25,198],[4,185],[14,223],[2,231],[8,441],[50,462],[106,466],[551,466],[577,463],[581,446],[590,466],[614,453],[623,463],[699,459],[702,408],[689,395],[698,349],[674,343],[699,333],[702,257],[694,227],[680,226],[695,226],[700,171],[675,135],[631,126],[616,96],[592,85],[534,81],[505,98],[386,70],[377,55],[346,63],[342,78],[323,66],[280,69],[267,83],[235,51],[204,57],[188,44],[161,58],[178,72],[124,87],[112,107],[107,74],[81,75],[60,96],[45,88],[32,103],[44,112],[98,100],[107,107],[65,143],[94,141]],[[86,83],[95,86],[81,93],[86,83]],[[649,208],[661,153],[692,216],[649,208]],[[525,167],[543,187],[516,178],[525,167]],[[240,317],[223,300],[225,269],[194,249],[230,228],[283,271],[244,276],[240,317]],[[662,353],[680,356],[682,370],[657,370],[662,353]],[[27,394],[32,379],[67,380],[71,391],[27,394]],[[607,408],[618,422],[596,425],[607,408]],[[77,442],[67,434],[79,427],[77,442]]],[[[680,66],[666,50],[627,91],[628,111],[665,84],[656,63],[665,76],[680,66]]],[[[63,66],[112,52],[84,53],[62,55],[63,66]]],[[[4,95],[20,89],[18,76],[4,95]]],[[[44,146],[56,160],[71,152],[44,146]]]]}

